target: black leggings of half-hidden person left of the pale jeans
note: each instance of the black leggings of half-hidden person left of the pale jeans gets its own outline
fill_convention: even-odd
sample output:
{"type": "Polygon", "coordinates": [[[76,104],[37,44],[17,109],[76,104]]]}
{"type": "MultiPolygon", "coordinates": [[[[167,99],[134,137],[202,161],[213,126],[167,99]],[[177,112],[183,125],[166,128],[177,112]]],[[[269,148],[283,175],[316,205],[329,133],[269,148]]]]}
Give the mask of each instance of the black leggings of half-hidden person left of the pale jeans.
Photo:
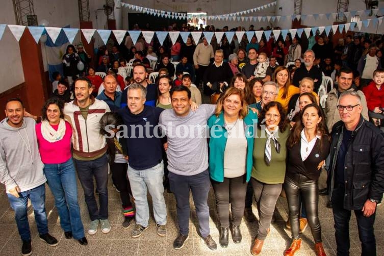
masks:
{"type": "Polygon", "coordinates": [[[130,195],[132,196],[130,182],[126,175],[127,163],[113,163],[111,165],[112,179],[116,188],[120,191],[122,207],[132,207],[130,195]]]}

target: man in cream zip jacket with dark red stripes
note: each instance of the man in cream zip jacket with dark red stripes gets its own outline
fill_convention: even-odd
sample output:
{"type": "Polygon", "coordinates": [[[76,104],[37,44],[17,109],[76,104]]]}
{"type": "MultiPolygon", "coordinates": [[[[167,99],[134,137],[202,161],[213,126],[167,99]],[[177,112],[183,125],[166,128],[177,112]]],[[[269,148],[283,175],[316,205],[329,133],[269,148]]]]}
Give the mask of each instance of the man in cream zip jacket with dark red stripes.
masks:
{"type": "Polygon", "coordinates": [[[74,84],[76,98],[64,107],[64,117],[73,130],[73,161],[91,219],[89,235],[96,234],[99,223],[101,232],[107,234],[111,231],[108,221],[107,142],[99,133],[101,116],[111,110],[105,101],[91,95],[92,90],[90,80],[79,78],[74,84]],[[99,194],[99,207],[94,195],[93,176],[99,194]]]}

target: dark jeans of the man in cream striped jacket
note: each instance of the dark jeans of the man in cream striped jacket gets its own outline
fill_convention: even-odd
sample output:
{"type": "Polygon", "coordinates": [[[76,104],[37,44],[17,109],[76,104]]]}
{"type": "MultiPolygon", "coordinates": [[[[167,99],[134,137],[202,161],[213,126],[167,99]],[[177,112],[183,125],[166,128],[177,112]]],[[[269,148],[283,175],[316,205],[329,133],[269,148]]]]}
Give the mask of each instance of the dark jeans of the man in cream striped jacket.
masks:
{"type": "Polygon", "coordinates": [[[108,158],[107,154],[91,161],[73,159],[80,183],[84,190],[90,219],[108,219],[108,158]],[[93,176],[99,193],[100,209],[94,194],[93,176]]]}

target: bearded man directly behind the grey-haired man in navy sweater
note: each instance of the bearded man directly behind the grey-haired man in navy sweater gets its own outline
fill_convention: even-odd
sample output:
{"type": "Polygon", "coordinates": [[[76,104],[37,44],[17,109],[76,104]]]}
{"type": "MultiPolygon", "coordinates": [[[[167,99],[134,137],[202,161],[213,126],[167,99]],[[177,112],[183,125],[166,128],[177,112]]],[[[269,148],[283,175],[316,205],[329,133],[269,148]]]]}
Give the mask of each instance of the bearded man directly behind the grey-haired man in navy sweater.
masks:
{"type": "MultiPolygon", "coordinates": [[[[157,99],[157,87],[155,84],[150,84],[150,81],[147,80],[147,71],[145,66],[142,64],[137,64],[133,68],[133,79],[136,83],[144,86],[146,88],[147,94],[145,99],[145,105],[155,107],[156,99],[157,99]],[[149,82],[149,83],[148,83],[149,82]]],[[[126,106],[127,102],[127,89],[123,91],[123,95],[121,97],[121,107],[126,106]]]]}

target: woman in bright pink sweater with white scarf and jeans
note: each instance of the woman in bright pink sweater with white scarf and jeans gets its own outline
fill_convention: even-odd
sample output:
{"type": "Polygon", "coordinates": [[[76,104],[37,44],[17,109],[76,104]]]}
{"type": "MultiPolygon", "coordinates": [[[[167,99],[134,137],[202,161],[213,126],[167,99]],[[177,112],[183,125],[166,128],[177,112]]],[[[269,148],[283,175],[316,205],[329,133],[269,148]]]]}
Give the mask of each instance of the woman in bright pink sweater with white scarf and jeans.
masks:
{"type": "Polygon", "coordinates": [[[71,155],[71,125],[64,121],[64,103],[58,98],[46,101],[42,122],[36,125],[41,161],[47,184],[55,197],[60,225],[66,239],[87,245],[78,203],[78,187],[71,155]]]}

